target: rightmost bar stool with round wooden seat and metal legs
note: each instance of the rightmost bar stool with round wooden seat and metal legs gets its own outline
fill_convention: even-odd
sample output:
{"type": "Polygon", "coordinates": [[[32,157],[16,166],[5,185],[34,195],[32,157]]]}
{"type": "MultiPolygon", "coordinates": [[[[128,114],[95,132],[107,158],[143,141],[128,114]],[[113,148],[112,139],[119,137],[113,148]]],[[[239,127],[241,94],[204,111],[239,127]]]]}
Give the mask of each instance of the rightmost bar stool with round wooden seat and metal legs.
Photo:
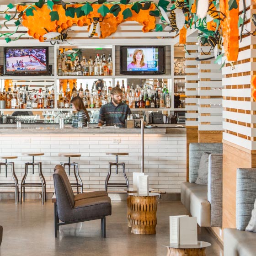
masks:
{"type": "Polygon", "coordinates": [[[106,178],[106,181],[105,181],[105,190],[107,191],[107,187],[126,187],[126,188],[129,188],[129,181],[128,181],[128,178],[125,174],[125,163],[118,163],[118,155],[129,155],[129,153],[106,153],[106,155],[115,155],[116,156],[116,162],[115,163],[109,162],[108,174],[107,174],[107,178],[106,178]],[[117,174],[118,174],[118,166],[119,165],[123,166],[123,176],[125,178],[126,183],[108,183],[109,178],[111,176],[112,165],[116,165],[117,174]]]}

